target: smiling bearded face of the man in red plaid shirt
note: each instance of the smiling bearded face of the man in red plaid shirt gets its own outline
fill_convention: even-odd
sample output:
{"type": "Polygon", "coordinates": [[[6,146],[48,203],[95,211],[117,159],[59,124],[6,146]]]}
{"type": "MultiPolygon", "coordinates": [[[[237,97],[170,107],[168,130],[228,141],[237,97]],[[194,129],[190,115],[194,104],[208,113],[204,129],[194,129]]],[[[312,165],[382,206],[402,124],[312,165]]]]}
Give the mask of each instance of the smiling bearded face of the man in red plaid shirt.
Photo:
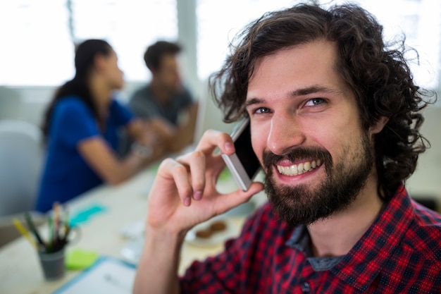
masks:
{"type": "Polygon", "coordinates": [[[373,171],[370,130],[335,70],[336,46],[318,40],[256,63],[249,80],[251,140],[266,192],[292,226],[341,211],[373,171]]]}

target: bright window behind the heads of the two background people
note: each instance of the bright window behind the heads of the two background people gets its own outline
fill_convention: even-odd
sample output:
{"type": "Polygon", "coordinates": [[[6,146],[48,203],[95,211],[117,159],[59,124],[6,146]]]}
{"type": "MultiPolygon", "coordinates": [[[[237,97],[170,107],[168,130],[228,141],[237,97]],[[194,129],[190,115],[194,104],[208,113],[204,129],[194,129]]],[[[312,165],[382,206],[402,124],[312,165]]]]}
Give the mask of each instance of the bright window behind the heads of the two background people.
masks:
{"type": "Polygon", "coordinates": [[[74,42],[106,39],[126,80],[146,80],[143,55],[178,37],[175,0],[14,0],[0,3],[0,85],[61,85],[73,78],[74,42]]]}

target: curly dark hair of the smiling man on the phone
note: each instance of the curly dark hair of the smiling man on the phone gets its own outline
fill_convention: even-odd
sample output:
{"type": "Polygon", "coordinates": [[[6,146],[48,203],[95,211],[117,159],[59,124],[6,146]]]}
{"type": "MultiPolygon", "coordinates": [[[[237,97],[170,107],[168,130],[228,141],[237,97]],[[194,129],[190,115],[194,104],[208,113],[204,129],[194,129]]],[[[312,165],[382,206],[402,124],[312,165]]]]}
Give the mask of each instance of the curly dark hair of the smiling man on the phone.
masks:
{"type": "Polygon", "coordinates": [[[316,39],[337,43],[335,68],[354,92],[362,128],[368,130],[381,116],[389,118],[375,135],[375,166],[380,195],[387,201],[414,173],[418,154],[430,147],[419,133],[424,118],[419,111],[435,96],[414,84],[404,58],[404,37],[386,46],[383,27],[370,13],[354,4],[332,6],[298,4],[265,13],[250,23],[230,44],[223,68],[211,75],[215,102],[224,121],[247,116],[244,102],[256,61],[287,47],[316,39]]]}

